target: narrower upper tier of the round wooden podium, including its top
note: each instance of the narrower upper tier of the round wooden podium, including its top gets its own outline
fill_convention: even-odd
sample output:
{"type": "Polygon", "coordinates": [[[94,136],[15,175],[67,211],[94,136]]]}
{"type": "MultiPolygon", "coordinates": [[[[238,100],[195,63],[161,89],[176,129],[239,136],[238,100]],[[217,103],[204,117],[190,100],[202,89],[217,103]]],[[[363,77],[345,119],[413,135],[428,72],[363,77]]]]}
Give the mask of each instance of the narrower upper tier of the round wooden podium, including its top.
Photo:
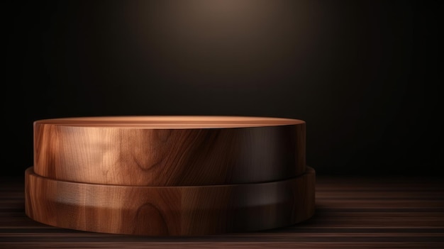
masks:
{"type": "Polygon", "coordinates": [[[71,182],[239,184],[304,173],[305,122],[236,116],[116,116],[34,122],[34,170],[71,182]]]}

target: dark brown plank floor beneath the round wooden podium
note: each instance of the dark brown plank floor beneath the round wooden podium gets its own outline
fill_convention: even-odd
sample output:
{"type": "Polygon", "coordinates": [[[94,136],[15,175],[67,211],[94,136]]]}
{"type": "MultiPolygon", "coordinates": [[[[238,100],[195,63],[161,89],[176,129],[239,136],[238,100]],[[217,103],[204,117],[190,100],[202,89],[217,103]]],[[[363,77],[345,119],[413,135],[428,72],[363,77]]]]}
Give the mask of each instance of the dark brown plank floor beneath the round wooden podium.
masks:
{"type": "Polygon", "coordinates": [[[0,178],[0,248],[444,248],[444,182],[317,177],[316,215],[295,226],[150,238],[54,228],[24,214],[23,179],[0,178]]]}

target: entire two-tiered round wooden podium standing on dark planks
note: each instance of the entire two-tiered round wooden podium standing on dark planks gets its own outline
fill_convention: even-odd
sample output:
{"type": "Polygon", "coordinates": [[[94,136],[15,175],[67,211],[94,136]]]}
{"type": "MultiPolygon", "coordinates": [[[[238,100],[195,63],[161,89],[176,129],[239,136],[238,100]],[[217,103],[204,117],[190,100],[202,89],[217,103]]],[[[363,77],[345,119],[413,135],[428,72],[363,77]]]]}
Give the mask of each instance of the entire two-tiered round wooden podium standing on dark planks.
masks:
{"type": "Polygon", "coordinates": [[[305,126],[238,116],[35,121],[26,214],[60,228],[140,236],[290,226],[315,207],[305,126]]]}

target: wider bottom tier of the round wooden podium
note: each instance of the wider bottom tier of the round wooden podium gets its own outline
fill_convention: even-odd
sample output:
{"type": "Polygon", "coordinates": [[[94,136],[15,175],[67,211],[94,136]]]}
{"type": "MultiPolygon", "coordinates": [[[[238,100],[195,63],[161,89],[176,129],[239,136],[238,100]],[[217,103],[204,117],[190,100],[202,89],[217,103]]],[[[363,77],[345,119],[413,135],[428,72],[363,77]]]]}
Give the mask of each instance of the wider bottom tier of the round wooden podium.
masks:
{"type": "Polygon", "coordinates": [[[26,170],[26,215],[60,228],[141,236],[260,231],[310,218],[315,171],[278,182],[140,187],[63,182],[26,170]]]}

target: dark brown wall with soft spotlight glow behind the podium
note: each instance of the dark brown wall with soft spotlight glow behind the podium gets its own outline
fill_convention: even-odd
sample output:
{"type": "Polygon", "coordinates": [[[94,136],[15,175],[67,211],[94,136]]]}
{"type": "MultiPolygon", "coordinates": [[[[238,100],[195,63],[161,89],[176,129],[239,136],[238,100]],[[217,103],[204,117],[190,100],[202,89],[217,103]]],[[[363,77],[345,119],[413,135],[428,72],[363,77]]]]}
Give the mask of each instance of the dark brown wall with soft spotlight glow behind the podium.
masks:
{"type": "Polygon", "coordinates": [[[443,175],[442,1],[7,1],[2,170],[32,122],[242,115],[307,122],[318,175],[443,175]]]}

